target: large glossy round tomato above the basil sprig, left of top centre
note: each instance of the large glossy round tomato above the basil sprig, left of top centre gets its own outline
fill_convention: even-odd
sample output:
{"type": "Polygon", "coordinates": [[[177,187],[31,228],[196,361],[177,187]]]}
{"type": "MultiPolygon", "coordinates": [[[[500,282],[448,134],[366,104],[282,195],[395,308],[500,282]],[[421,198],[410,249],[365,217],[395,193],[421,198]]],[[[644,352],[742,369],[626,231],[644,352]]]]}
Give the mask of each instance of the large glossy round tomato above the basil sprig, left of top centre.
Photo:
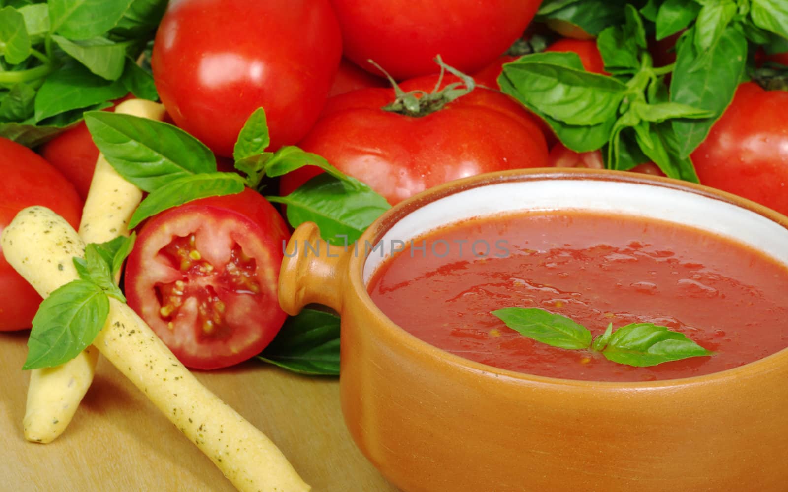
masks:
{"type": "Polygon", "coordinates": [[[151,62],[175,123],[229,157],[243,123],[260,106],[269,148],[306,135],[341,53],[328,0],[181,0],[169,4],[151,62]]]}

